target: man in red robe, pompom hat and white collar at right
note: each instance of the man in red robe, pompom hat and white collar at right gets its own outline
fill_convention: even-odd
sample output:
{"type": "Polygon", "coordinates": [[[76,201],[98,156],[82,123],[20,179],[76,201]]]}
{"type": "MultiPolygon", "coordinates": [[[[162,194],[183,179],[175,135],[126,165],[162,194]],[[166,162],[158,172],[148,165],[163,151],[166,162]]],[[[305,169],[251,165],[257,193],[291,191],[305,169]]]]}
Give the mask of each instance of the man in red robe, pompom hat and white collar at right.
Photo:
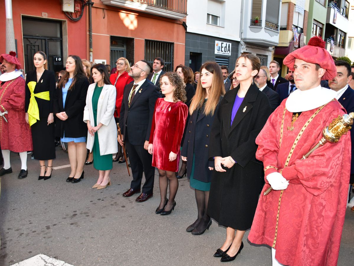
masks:
{"type": "Polygon", "coordinates": [[[320,86],[337,74],[318,37],[284,59],[297,90],[272,113],[256,143],[265,182],[249,240],[272,247],[273,265],[337,265],[350,174],[350,135],[301,160],[346,111],[320,86]],[[268,195],[263,192],[273,187],[268,195]]]}

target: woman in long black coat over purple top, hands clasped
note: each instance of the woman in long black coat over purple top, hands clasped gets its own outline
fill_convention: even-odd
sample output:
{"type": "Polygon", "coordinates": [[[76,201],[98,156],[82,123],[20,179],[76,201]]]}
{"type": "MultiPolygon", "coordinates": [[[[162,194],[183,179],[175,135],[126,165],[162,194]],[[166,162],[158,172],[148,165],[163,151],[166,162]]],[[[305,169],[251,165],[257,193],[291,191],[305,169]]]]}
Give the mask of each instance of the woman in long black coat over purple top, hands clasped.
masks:
{"type": "Polygon", "coordinates": [[[215,159],[207,214],[227,227],[226,240],[214,256],[231,261],[243,248],[242,238],[252,225],[263,165],[256,160],[256,137],[272,109],[267,96],[253,84],[259,58],[244,54],[236,62],[240,84],[221,101],[212,129],[209,158],[215,159]],[[236,234],[235,234],[236,231],[236,234]]]}

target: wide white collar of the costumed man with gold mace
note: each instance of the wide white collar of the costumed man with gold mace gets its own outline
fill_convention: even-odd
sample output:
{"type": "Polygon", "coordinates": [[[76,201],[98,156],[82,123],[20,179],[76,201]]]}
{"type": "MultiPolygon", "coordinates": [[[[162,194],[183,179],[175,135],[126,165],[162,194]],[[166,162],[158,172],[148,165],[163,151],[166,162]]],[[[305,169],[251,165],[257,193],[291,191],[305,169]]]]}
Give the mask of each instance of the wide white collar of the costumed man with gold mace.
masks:
{"type": "MultiPolygon", "coordinates": [[[[1,76],[0,76],[1,77],[1,76]]],[[[289,112],[304,112],[318,108],[336,98],[337,93],[320,85],[309,90],[297,89],[286,99],[289,112]]]]}

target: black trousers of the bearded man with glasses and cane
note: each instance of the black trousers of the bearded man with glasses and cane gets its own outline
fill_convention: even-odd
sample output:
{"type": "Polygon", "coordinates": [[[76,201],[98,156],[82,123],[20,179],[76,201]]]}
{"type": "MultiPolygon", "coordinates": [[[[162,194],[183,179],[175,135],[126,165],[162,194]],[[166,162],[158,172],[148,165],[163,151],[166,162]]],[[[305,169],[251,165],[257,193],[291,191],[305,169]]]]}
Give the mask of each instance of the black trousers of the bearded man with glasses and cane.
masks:
{"type": "Polygon", "coordinates": [[[140,189],[143,172],[145,175],[145,183],[142,192],[151,194],[154,190],[155,167],[152,166],[153,156],[144,149],[144,145],[132,145],[129,142],[128,132],[125,135],[125,147],[129,153],[129,162],[131,165],[133,180],[130,188],[140,189]]]}

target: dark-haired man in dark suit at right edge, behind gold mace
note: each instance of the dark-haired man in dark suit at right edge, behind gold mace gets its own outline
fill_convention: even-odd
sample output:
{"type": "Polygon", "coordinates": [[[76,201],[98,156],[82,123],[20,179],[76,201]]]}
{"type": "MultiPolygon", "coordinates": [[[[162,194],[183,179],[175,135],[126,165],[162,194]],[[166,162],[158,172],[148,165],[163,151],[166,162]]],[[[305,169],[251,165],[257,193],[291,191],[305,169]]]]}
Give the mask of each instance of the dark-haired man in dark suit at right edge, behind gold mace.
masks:
{"type": "MultiPolygon", "coordinates": [[[[331,90],[337,92],[336,99],[343,105],[347,113],[354,112],[354,90],[349,87],[352,80],[351,69],[348,62],[343,60],[334,61],[337,68],[337,76],[328,82],[331,90]]],[[[354,183],[354,130],[350,130],[350,138],[352,140],[352,160],[350,162],[350,184],[354,183]]],[[[350,190],[349,190],[350,192],[350,190]]],[[[350,199],[350,194],[349,194],[350,199]]],[[[354,200],[350,203],[354,204],[354,200]]],[[[354,206],[352,207],[354,211],[354,206]]]]}

